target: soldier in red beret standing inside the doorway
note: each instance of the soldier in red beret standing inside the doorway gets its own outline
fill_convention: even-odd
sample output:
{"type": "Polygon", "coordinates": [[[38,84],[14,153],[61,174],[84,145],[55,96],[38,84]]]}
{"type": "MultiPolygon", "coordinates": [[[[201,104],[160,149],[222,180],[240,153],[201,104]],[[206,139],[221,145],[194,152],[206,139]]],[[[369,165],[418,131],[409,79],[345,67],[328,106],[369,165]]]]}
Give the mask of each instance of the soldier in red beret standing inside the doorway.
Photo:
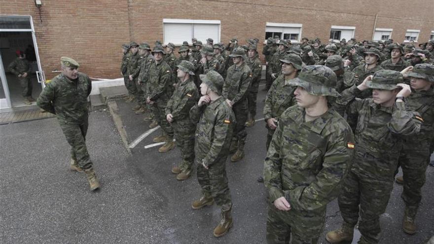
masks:
{"type": "Polygon", "coordinates": [[[17,56],[18,57],[9,64],[7,70],[17,76],[20,86],[23,89],[21,91],[23,101],[25,104],[31,105],[32,102],[35,102],[35,99],[32,98],[33,84],[30,79],[32,67],[29,61],[27,61],[23,51],[17,51],[17,56]]]}

